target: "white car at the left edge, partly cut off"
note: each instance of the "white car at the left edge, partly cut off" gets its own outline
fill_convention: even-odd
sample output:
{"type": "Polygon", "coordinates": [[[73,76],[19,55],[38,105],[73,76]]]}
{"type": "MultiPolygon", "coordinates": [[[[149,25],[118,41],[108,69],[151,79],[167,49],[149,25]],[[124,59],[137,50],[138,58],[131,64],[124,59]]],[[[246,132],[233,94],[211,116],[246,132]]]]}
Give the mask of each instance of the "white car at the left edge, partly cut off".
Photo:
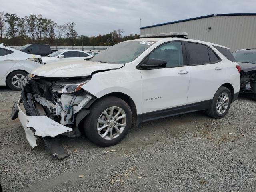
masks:
{"type": "Polygon", "coordinates": [[[40,55],[32,55],[0,44],[0,85],[20,90],[20,80],[42,66],[40,55]]]}

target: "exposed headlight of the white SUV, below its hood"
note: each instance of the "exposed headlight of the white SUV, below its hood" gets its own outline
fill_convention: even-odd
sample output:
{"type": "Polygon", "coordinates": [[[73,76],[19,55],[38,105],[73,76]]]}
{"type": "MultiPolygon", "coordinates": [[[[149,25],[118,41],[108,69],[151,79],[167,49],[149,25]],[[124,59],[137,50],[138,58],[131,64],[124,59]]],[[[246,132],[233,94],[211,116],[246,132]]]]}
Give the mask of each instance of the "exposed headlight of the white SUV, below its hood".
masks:
{"type": "Polygon", "coordinates": [[[70,84],[54,84],[52,90],[58,93],[74,93],[81,89],[81,87],[88,83],[90,80],[80,82],[80,83],[70,83],[70,84]]]}

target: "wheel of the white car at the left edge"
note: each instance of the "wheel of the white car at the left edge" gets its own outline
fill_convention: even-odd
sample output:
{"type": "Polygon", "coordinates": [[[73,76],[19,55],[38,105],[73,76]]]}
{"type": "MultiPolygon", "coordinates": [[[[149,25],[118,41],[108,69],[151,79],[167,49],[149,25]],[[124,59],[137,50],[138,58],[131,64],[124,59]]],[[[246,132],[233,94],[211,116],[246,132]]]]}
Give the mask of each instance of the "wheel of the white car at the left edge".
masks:
{"type": "Polygon", "coordinates": [[[28,74],[24,71],[14,71],[11,72],[8,77],[6,78],[6,84],[9,88],[11,88],[14,91],[20,91],[20,84],[18,83],[18,80],[26,77],[28,74]],[[17,81],[17,82],[16,82],[17,81]],[[16,82],[15,84],[13,82],[16,82]]]}

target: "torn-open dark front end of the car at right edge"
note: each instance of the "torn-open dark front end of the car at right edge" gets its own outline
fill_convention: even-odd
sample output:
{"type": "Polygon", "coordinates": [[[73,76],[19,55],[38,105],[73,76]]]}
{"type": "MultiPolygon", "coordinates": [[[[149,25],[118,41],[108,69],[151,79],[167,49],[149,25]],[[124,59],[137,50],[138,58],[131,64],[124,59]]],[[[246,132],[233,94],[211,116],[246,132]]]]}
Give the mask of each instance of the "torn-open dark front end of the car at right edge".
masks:
{"type": "Polygon", "coordinates": [[[256,94],[256,70],[242,70],[240,76],[240,92],[256,94]]]}

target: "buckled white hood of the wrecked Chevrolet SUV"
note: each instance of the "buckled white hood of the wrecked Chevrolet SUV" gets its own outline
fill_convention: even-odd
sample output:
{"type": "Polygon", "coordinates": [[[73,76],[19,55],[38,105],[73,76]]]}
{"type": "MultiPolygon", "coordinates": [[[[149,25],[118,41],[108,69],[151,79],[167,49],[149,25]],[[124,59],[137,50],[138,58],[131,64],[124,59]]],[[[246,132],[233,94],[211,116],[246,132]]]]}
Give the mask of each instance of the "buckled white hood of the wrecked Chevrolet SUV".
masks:
{"type": "Polygon", "coordinates": [[[124,64],[99,63],[85,60],[67,60],[54,62],[38,67],[31,72],[33,75],[43,77],[79,77],[88,76],[100,70],[113,70],[122,68],[124,64]]]}

